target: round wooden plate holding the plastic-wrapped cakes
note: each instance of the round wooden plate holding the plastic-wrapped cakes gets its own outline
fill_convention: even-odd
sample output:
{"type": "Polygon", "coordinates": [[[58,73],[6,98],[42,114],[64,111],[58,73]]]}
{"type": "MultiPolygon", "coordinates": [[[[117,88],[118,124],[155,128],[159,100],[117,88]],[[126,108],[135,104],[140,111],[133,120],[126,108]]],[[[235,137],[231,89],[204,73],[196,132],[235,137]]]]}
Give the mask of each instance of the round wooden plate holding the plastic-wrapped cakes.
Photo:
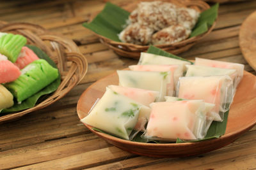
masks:
{"type": "MultiPolygon", "coordinates": [[[[114,73],[93,83],[84,91],[77,103],[79,118],[86,117],[95,100],[104,94],[106,86],[117,84],[118,76],[114,73]]],[[[241,134],[251,129],[256,124],[255,106],[256,76],[244,71],[243,80],[237,88],[236,96],[228,115],[227,131],[221,138],[196,143],[139,143],[115,138],[108,134],[93,131],[89,125],[85,124],[85,126],[109,143],[127,152],[148,157],[187,157],[210,152],[228,145],[241,136],[241,134]]]]}

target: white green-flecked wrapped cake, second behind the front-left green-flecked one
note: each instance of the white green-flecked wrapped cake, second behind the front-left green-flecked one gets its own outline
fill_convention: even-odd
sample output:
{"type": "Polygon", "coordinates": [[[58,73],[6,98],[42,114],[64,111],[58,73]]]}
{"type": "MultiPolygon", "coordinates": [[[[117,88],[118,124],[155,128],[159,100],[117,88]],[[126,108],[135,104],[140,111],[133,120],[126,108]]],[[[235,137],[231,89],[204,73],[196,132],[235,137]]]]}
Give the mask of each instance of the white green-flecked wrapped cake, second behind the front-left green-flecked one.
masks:
{"type": "Polygon", "coordinates": [[[172,73],[170,71],[127,71],[118,70],[119,85],[159,92],[156,101],[164,101],[173,90],[168,87],[172,73]]]}

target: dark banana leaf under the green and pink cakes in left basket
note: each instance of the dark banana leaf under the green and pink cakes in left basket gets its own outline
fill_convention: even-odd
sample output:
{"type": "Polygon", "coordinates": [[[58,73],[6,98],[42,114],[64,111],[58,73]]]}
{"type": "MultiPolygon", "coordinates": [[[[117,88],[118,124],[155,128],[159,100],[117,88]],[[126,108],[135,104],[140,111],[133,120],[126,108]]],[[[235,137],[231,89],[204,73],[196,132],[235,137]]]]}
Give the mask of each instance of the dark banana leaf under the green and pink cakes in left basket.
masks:
{"type": "MultiPolygon", "coordinates": [[[[28,48],[30,48],[31,50],[33,50],[33,52],[36,53],[36,55],[38,56],[38,58],[40,59],[45,59],[47,60],[47,62],[49,64],[51,64],[52,67],[57,68],[56,64],[50,59],[50,57],[43,52],[40,48],[33,46],[33,45],[26,45],[28,46],[28,48]]],[[[14,102],[14,105],[11,108],[8,109],[4,109],[2,110],[0,113],[13,113],[16,111],[22,111],[22,110],[26,110],[28,108],[33,108],[36,104],[36,102],[38,102],[40,99],[42,99],[42,97],[46,94],[51,94],[52,92],[54,92],[55,90],[58,89],[59,85],[60,85],[60,81],[61,81],[61,77],[60,77],[60,73],[58,78],[53,81],[50,85],[48,85],[47,87],[45,87],[44,89],[40,90],[39,92],[37,92],[36,94],[34,94],[33,96],[29,97],[28,99],[26,99],[25,101],[22,101],[21,104],[18,104],[16,101],[14,102]],[[41,97],[41,98],[40,98],[41,97]]]]}

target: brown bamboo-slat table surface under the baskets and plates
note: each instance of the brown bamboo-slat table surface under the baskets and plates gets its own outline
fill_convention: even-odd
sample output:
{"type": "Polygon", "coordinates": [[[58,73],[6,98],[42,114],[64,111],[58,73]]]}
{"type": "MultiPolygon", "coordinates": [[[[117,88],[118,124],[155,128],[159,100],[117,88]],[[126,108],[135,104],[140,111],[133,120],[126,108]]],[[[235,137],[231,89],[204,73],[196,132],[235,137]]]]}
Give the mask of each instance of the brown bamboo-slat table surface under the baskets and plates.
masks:
{"type": "MultiPolygon", "coordinates": [[[[113,0],[122,5],[124,1],[113,0]]],[[[73,39],[89,62],[88,73],[57,103],[0,124],[0,169],[256,169],[256,127],[219,150],[187,158],[140,157],[112,146],[84,127],[76,113],[79,96],[93,82],[138,60],[118,57],[81,24],[102,10],[103,0],[1,1],[0,20],[40,24],[73,39]]],[[[180,56],[245,64],[239,27],[256,1],[220,5],[214,30],[180,56]]],[[[250,90],[250,89],[248,89],[250,90]]]]}

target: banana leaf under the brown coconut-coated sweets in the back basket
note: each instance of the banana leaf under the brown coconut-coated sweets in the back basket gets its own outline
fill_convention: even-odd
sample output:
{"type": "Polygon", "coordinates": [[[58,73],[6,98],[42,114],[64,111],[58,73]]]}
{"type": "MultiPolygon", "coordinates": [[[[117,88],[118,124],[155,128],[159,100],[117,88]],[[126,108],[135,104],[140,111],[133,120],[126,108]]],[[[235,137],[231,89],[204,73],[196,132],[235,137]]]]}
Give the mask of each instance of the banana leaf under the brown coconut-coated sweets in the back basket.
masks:
{"type": "MultiPolygon", "coordinates": [[[[207,32],[209,27],[218,17],[219,4],[213,5],[209,10],[205,10],[200,14],[190,38],[207,32]]],[[[120,42],[118,34],[127,25],[127,19],[130,13],[112,3],[106,3],[104,9],[95,17],[92,22],[84,22],[83,26],[91,31],[109,38],[113,41],[120,42]]]]}

